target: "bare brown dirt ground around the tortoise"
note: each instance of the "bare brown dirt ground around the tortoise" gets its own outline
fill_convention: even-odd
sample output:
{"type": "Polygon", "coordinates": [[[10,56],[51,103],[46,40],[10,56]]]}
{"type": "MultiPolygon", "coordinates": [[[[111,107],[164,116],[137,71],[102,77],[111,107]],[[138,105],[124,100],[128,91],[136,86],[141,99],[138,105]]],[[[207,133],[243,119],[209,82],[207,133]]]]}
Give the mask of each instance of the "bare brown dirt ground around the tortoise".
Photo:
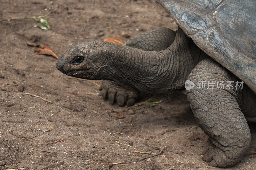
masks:
{"type": "MultiPolygon", "coordinates": [[[[174,92],[155,100],[163,100],[160,103],[140,107],[111,105],[102,100],[96,85],[65,76],[55,68],[55,58],[35,55],[35,48],[26,44],[46,43],[61,55],[83,41],[112,36],[127,41],[157,27],[176,30],[159,4],[153,0],[0,1],[0,20],[22,11],[29,13],[17,13],[16,18],[48,14],[44,18],[51,29],[34,28],[41,25],[34,19],[0,22],[0,169],[108,169],[100,163],[151,155],[133,151],[161,150],[164,155],[109,168],[219,169],[202,160],[208,137],[196,124],[185,95],[174,92]],[[53,103],[17,93],[22,90],[53,103]]],[[[249,126],[250,151],[256,151],[256,126],[249,126]]],[[[255,158],[248,153],[229,169],[256,169],[255,158]]]]}

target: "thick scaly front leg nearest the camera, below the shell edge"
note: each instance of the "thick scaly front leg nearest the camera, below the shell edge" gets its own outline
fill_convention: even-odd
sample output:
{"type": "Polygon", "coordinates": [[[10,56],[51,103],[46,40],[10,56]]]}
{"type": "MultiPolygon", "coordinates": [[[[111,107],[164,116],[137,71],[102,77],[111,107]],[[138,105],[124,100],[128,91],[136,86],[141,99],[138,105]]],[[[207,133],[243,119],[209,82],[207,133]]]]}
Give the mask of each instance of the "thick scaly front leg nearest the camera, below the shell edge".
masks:
{"type": "Polygon", "coordinates": [[[209,135],[203,160],[210,162],[210,166],[234,166],[247,151],[251,134],[239,107],[236,90],[217,88],[217,82],[224,81],[226,88],[227,81],[238,79],[208,58],[196,65],[188,80],[195,85],[206,82],[204,88],[195,86],[186,91],[196,122],[209,135]],[[208,81],[213,81],[213,88],[207,85],[208,81]]]}

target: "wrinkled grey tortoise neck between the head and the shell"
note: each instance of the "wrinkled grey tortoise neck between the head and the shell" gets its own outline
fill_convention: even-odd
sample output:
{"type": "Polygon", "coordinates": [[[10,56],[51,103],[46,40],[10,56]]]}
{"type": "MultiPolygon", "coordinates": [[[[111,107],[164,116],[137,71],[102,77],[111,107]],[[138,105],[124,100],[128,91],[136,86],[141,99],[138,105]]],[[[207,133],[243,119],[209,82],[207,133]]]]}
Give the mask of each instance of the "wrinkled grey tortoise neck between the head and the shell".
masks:
{"type": "Polygon", "coordinates": [[[108,80],[143,93],[165,93],[184,88],[202,52],[181,30],[164,51],[144,51],[113,45],[108,80]]]}

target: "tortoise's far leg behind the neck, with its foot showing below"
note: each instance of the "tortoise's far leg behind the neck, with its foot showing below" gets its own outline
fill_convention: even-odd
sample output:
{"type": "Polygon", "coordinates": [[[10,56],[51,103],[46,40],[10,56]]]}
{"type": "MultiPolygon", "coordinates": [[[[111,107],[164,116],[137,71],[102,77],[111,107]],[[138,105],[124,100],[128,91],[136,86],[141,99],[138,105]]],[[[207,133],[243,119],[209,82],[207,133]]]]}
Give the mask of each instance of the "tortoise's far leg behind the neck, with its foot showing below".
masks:
{"type": "MultiPolygon", "coordinates": [[[[169,28],[156,28],[131,38],[124,45],[146,51],[160,51],[168,48],[175,36],[176,32],[169,28]]],[[[125,103],[127,106],[132,106],[139,98],[138,92],[127,90],[108,80],[102,81],[100,90],[103,99],[108,99],[111,104],[116,101],[119,106],[124,106],[125,103]]]]}

